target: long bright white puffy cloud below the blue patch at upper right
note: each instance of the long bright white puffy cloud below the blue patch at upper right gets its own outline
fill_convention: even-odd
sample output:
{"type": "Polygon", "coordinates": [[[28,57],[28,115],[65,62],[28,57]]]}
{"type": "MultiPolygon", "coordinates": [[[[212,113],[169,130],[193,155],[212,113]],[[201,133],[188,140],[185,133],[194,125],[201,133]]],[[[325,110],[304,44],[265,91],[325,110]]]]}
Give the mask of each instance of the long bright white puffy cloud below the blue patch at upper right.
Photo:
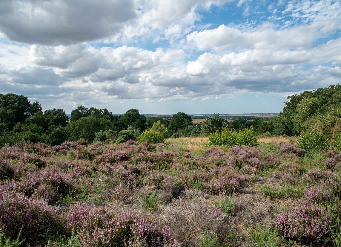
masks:
{"type": "Polygon", "coordinates": [[[194,31],[187,41],[200,50],[214,49],[303,49],[323,37],[327,32],[340,29],[341,19],[317,22],[284,30],[275,30],[275,25],[265,23],[258,29],[242,32],[236,27],[220,25],[218,28],[194,31]],[[329,27],[328,29],[326,27],[329,27]]]}

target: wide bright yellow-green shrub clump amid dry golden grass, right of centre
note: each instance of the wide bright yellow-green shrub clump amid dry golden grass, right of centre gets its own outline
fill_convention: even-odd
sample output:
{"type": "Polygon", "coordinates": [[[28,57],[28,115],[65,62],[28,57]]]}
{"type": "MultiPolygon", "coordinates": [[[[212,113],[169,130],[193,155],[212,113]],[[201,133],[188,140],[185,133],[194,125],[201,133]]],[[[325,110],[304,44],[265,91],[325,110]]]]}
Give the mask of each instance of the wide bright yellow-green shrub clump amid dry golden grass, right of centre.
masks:
{"type": "Polygon", "coordinates": [[[240,131],[239,133],[230,131],[228,128],[224,128],[222,132],[218,130],[215,133],[208,135],[208,144],[211,146],[228,146],[234,147],[236,145],[243,146],[257,146],[258,137],[254,131],[254,128],[250,127],[240,131]]]}

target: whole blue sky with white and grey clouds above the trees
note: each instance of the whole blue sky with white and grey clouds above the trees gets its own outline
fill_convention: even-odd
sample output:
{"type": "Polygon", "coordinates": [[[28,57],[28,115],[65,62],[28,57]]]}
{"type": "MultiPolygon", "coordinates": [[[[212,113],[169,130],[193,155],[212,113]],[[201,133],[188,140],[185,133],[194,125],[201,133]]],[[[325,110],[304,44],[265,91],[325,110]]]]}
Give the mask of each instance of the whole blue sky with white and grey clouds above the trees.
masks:
{"type": "Polygon", "coordinates": [[[341,82],[340,30],[340,0],[1,0],[0,93],[66,113],[278,113],[341,82]]]}

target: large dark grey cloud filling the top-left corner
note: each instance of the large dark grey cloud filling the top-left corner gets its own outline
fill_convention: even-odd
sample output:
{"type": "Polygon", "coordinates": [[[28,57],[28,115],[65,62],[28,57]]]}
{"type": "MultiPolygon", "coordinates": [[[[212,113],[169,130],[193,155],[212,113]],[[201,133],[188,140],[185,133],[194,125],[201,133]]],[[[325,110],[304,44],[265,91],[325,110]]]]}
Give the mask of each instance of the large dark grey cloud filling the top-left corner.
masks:
{"type": "Polygon", "coordinates": [[[10,40],[72,44],[114,35],[136,18],[125,0],[2,0],[0,31],[10,40]]]}

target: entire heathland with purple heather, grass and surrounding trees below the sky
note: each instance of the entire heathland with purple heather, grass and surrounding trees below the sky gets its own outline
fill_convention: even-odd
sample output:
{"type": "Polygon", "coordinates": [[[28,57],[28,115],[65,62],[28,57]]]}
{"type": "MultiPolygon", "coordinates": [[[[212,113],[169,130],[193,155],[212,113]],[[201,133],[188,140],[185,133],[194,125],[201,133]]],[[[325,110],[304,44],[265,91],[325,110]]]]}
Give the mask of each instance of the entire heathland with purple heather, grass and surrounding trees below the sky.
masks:
{"type": "Polygon", "coordinates": [[[194,124],[0,95],[0,246],[341,246],[340,97],[194,124]]]}

